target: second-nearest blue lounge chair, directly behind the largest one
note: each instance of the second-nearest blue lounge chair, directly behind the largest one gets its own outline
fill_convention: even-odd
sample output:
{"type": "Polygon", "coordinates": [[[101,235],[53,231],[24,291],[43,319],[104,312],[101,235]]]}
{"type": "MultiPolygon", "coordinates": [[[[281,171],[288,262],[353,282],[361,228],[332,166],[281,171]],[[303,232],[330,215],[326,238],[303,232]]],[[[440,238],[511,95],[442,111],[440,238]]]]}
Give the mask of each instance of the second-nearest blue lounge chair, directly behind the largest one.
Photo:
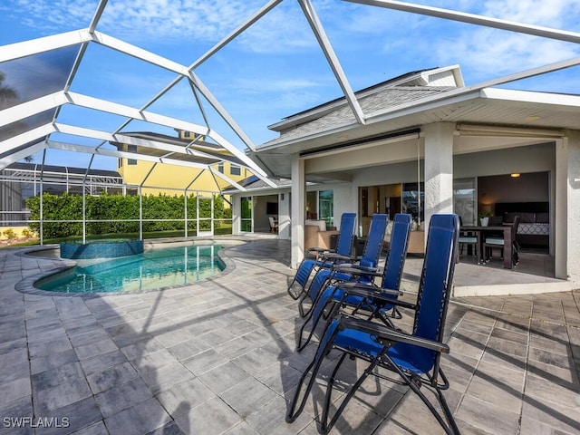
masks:
{"type": "MultiPolygon", "coordinates": [[[[355,307],[355,311],[363,310],[365,313],[370,312],[369,317],[379,316],[385,323],[391,324],[386,313],[391,312],[391,316],[397,316],[399,314],[393,304],[386,304],[382,300],[375,302],[372,297],[362,297],[359,295],[350,295],[349,297],[344,298],[343,289],[353,289],[362,286],[362,289],[366,288],[370,291],[371,296],[379,293],[380,295],[397,297],[399,294],[399,287],[401,286],[402,269],[405,266],[405,258],[407,257],[410,234],[411,215],[401,213],[395,215],[392,223],[389,253],[381,274],[362,266],[352,267],[349,265],[340,265],[333,268],[333,270],[338,271],[338,273],[332,275],[327,280],[328,285],[318,295],[314,302],[314,309],[307,314],[304,324],[300,328],[297,339],[298,345],[296,348],[298,352],[302,351],[306,344],[310,342],[316,325],[319,323],[321,317],[323,317],[324,311],[327,311],[328,305],[332,303],[340,302],[341,304],[351,305],[355,307]],[[382,278],[381,287],[372,286],[369,288],[368,284],[361,282],[360,277],[362,275],[380,276],[382,278]],[[391,292],[383,292],[384,290],[390,290],[391,292],[394,291],[396,293],[392,295],[391,292]],[[307,324],[310,324],[311,320],[312,328],[306,337],[306,340],[302,343],[304,327],[307,324]]],[[[372,283],[370,284],[372,285],[372,283]]]]}

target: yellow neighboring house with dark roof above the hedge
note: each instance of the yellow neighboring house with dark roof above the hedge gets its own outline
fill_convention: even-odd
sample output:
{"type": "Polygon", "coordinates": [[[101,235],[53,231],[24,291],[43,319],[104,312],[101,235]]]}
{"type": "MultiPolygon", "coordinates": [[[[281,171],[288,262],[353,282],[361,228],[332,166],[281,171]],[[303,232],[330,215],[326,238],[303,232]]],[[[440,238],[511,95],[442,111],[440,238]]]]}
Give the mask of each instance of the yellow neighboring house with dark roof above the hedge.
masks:
{"type": "MultiPolygon", "coordinates": [[[[118,170],[125,183],[133,185],[134,189],[142,186],[144,195],[159,193],[183,195],[185,189],[188,189],[188,194],[196,192],[199,192],[199,195],[203,195],[204,192],[215,194],[231,185],[229,181],[237,182],[252,175],[243,163],[229,154],[227,150],[208,142],[203,137],[195,137],[189,131],[178,131],[179,137],[151,132],[123,134],[136,140],[160,140],[165,144],[189,148],[192,154],[198,154],[196,167],[160,165],[152,161],[131,159],[131,157],[119,158],[118,170]],[[217,160],[221,161],[216,163],[217,160]],[[210,170],[206,170],[207,168],[203,167],[204,164],[216,169],[219,174],[223,174],[224,178],[219,178],[210,170]]],[[[165,156],[179,159],[179,154],[171,154],[165,149],[155,150],[151,147],[119,142],[111,142],[111,144],[117,147],[117,150],[135,154],[135,157],[139,154],[140,158],[143,155],[150,155],[155,158],[165,156]]]]}

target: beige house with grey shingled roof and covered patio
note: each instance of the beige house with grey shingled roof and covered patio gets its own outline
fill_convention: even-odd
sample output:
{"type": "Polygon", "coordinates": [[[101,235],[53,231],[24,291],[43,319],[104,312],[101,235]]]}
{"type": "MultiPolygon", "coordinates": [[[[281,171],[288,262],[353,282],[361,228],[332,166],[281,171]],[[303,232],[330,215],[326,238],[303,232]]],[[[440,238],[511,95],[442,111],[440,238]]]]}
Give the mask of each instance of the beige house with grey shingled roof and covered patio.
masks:
{"type": "MultiPolygon", "coordinates": [[[[291,237],[293,265],[312,212],[306,192],[332,191],[333,216],[357,210],[362,235],[376,212],[410,212],[420,229],[440,212],[456,211],[465,224],[484,210],[525,213],[539,219],[527,230],[543,237],[528,240],[555,257],[556,277],[580,283],[580,96],[466,87],[458,65],[355,95],[363,123],[341,98],[270,126],[280,137],[250,153],[292,180],[275,194],[291,198],[279,209],[292,222],[280,235],[291,237]]],[[[234,209],[268,194],[237,193],[234,209]]]]}

